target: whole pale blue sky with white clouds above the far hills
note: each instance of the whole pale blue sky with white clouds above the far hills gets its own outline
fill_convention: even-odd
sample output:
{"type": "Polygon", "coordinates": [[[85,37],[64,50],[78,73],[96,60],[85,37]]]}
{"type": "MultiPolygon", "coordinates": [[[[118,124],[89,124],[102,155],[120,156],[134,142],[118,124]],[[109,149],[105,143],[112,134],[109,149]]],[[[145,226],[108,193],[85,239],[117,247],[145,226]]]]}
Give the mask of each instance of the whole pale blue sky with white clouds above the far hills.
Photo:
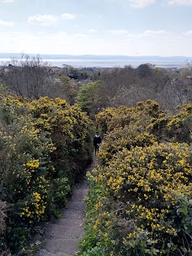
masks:
{"type": "Polygon", "coordinates": [[[192,56],[192,0],[0,0],[0,52],[192,56]]]}

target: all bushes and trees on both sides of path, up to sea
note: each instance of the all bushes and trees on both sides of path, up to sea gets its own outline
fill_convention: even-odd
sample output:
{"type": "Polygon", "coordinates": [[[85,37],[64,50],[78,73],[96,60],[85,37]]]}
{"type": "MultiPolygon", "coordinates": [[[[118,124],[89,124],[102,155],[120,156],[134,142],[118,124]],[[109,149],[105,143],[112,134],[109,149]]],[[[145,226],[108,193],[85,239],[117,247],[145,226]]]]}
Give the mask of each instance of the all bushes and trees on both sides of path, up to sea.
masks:
{"type": "Polygon", "coordinates": [[[54,75],[46,65],[22,56],[0,72],[0,252],[34,251],[32,237],[83,179],[97,125],[104,142],[79,255],[189,256],[191,65],[54,75]]]}

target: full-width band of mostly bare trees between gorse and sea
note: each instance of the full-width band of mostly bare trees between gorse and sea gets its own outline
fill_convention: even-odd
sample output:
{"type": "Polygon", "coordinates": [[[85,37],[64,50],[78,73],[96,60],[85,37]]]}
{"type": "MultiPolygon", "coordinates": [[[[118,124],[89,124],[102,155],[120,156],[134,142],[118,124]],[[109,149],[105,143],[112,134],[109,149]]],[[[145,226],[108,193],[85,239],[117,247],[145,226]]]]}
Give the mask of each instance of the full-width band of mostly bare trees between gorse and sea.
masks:
{"type": "Polygon", "coordinates": [[[137,68],[67,66],[54,77],[49,76],[49,68],[40,56],[21,55],[9,63],[8,72],[2,75],[3,84],[13,93],[31,99],[49,96],[67,99],[69,104],[77,102],[91,116],[106,107],[130,107],[147,99],[155,99],[163,109],[175,113],[192,100],[191,63],[178,72],[148,63],[137,68]]]}

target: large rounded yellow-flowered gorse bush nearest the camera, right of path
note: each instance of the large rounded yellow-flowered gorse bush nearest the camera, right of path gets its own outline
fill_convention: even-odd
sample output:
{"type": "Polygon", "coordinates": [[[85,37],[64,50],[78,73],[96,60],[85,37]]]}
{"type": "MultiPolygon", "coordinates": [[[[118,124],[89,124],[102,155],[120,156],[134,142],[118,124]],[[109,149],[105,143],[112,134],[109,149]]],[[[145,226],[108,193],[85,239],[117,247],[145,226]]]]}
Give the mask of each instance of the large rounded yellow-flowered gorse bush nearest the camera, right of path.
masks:
{"type": "Polygon", "coordinates": [[[84,251],[85,246],[103,245],[106,255],[191,252],[192,177],[187,144],[124,149],[93,175],[96,189],[88,198],[84,251]]]}

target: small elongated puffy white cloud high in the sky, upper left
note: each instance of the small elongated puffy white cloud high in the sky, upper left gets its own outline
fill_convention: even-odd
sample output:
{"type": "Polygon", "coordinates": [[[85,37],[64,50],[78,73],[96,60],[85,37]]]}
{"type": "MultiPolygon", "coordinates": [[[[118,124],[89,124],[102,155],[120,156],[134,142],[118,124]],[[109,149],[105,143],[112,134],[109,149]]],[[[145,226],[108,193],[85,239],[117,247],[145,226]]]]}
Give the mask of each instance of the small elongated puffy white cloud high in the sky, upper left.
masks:
{"type": "Polygon", "coordinates": [[[56,17],[52,15],[40,15],[40,14],[30,16],[28,19],[29,24],[41,24],[45,26],[56,24],[56,21],[57,21],[56,17]]]}

